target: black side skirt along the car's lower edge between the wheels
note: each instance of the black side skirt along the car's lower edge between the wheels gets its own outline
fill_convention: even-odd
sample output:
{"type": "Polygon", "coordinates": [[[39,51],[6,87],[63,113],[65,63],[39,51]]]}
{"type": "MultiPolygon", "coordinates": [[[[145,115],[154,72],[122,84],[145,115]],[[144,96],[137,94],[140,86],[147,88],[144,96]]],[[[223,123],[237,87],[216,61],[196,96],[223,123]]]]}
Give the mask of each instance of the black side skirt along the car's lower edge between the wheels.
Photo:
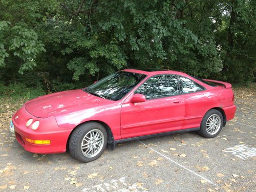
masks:
{"type": "Polygon", "coordinates": [[[118,144],[118,143],[124,143],[124,142],[129,142],[129,141],[138,140],[138,139],[148,139],[148,138],[153,138],[153,137],[161,137],[161,136],[164,136],[164,135],[172,135],[172,134],[177,134],[177,133],[194,132],[194,131],[198,131],[198,130],[200,130],[200,127],[185,129],[185,130],[172,131],[172,132],[158,133],[158,134],[153,134],[153,135],[144,135],[144,136],[140,136],[140,137],[132,137],[132,138],[127,138],[127,139],[120,139],[120,140],[112,142],[111,143],[112,146],[109,146],[109,148],[111,150],[114,150],[115,145],[118,144]]]}

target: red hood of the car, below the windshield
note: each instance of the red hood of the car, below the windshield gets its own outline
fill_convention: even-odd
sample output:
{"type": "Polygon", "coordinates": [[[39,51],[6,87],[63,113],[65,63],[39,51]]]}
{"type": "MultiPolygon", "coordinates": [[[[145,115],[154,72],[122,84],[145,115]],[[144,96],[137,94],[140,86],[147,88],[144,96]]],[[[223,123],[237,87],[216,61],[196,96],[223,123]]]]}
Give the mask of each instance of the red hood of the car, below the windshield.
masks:
{"type": "Polygon", "coordinates": [[[80,89],[37,97],[25,103],[25,108],[35,117],[47,118],[57,114],[102,106],[109,102],[111,100],[88,94],[80,89]]]}

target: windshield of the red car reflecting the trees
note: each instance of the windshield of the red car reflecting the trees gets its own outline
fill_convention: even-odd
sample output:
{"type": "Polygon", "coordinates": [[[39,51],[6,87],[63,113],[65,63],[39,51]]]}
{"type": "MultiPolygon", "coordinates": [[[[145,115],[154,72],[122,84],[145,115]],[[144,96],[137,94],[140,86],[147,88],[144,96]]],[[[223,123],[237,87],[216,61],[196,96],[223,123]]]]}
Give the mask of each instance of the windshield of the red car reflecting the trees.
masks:
{"type": "Polygon", "coordinates": [[[144,74],[119,71],[99,80],[83,91],[101,98],[119,100],[145,77],[144,74]]]}

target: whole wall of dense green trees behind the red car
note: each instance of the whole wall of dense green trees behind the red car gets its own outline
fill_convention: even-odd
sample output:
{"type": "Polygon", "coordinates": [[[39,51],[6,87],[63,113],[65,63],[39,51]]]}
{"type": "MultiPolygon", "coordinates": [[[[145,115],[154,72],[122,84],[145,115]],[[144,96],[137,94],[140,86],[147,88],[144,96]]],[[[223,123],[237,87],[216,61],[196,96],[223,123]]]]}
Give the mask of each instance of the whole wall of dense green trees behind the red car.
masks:
{"type": "Polygon", "coordinates": [[[255,79],[255,8],[253,0],[3,0],[0,81],[53,92],[124,68],[166,68],[246,83],[255,79]]]}

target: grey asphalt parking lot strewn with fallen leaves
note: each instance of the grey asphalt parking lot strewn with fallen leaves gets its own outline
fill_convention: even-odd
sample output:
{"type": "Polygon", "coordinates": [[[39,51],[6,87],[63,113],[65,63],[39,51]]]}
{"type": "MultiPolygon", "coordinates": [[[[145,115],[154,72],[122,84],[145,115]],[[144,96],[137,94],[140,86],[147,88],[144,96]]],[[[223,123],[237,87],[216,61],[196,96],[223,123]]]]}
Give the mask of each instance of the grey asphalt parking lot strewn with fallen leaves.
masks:
{"type": "Polygon", "coordinates": [[[0,102],[0,190],[3,191],[255,191],[255,90],[237,89],[236,117],[220,135],[190,132],[118,144],[90,163],[69,153],[26,152],[9,132],[22,104],[0,102]]]}

